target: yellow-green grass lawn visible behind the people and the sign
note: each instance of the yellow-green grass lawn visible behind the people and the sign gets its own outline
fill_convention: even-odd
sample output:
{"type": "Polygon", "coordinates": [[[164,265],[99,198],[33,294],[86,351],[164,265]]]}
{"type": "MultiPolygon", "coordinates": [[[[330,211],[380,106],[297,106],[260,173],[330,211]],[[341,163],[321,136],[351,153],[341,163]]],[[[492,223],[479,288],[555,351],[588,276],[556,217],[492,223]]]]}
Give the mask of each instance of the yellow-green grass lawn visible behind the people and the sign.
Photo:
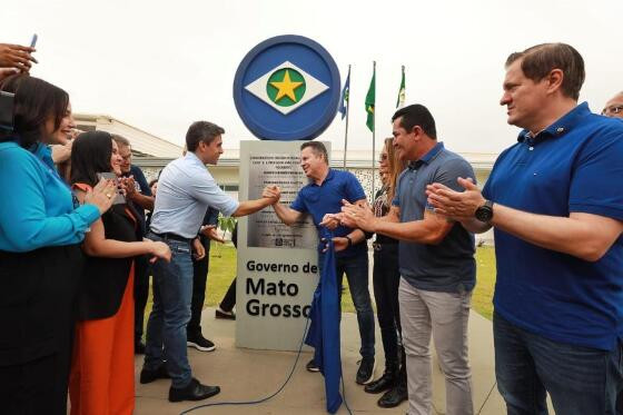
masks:
{"type": "MultiPolygon", "coordinates": [[[[477,283],[472,297],[472,307],[491,319],[493,315],[493,289],[495,286],[495,254],[493,247],[479,247],[476,249],[477,264],[477,283]]],[[[216,306],[222,299],[222,296],[229,288],[229,284],[236,276],[236,249],[234,245],[215,244],[210,248],[210,268],[208,271],[208,284],[206,287],[205,306],[216,306]]],[[[346,278],[344,278],[345,289],[342,295],[342,310],[354,313],[350,292],[346,287],[346,278]]],[[[146,323],[151,312],[151,290],[146,307],[146,323]]]]}

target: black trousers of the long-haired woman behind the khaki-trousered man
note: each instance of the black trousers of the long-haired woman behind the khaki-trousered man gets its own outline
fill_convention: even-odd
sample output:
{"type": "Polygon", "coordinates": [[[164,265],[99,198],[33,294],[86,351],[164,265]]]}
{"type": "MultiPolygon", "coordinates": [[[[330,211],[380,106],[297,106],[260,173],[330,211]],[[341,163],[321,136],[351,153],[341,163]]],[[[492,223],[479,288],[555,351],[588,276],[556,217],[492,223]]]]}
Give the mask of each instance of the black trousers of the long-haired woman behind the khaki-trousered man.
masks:
{"type": "Polygon", "coordinates": [[[398,333],[402,333],[398,305],[398,285],[400,283],[398,244],[383,244],[380,250],[374,251],[372,278],[376,316],[385,352],[385,369],[397,370],[400,365],[400,357],[402,362],[405,362],[405,350],[398,339],[398,333]]]}

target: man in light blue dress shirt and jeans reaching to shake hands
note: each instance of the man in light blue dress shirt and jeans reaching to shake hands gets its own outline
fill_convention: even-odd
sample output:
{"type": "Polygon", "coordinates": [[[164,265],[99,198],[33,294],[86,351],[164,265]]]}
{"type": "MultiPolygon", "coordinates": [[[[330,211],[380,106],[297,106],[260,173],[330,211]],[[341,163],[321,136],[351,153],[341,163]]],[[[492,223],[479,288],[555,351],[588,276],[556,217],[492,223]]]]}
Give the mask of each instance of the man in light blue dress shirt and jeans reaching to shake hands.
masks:
{"type": "Polygon", "coordinates": [[[194,122],[186,135],[186,156],[171,161],[158,180],[158,197],[149,239],[171,248],[171,261],[154,264],[154,308],[147,324],[147,347],[140,383],[170,377],[169,401],[199,401],[220,392],[191,376],[186,327],[190,319],[192,260],[205,251],[197,239],[208,207],[225,216],[240,217],[273,205],[277,189],[266,189],[261,199],[237,201],[222,191],[205,165],[216,165],[222,154],[225,130],[211,122],[194,122]]]}

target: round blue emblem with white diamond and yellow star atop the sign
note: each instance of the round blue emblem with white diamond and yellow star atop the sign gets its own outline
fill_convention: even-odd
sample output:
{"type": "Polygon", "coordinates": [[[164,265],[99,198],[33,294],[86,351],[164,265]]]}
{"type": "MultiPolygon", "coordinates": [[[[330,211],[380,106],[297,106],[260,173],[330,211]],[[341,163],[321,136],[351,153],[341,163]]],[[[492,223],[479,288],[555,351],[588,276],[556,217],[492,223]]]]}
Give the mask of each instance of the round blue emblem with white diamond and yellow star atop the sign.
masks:
{"type": "Polygon", "coordinates": [[[339,71],[319,43],[278,36],[253,48],[234,79],[234,102],[245,126],[263,140],[310,140],[333,121],[339,71]]]}

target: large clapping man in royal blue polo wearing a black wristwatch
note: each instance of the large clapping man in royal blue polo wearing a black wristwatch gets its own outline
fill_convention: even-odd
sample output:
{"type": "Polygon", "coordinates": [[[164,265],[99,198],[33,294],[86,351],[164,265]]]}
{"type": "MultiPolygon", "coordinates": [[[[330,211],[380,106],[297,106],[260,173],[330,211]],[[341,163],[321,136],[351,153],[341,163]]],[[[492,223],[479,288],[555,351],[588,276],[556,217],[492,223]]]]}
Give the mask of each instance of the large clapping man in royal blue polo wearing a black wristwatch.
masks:
{"type": "Polygon", "coordinates": [[[495,366],[508,414],[614,414],[623,386],[623,123],[577,105],[584,61],[545,43],[506,61],[523,128],[482,194],[428,188],[436,210],[495,229],[495,366]]]}

